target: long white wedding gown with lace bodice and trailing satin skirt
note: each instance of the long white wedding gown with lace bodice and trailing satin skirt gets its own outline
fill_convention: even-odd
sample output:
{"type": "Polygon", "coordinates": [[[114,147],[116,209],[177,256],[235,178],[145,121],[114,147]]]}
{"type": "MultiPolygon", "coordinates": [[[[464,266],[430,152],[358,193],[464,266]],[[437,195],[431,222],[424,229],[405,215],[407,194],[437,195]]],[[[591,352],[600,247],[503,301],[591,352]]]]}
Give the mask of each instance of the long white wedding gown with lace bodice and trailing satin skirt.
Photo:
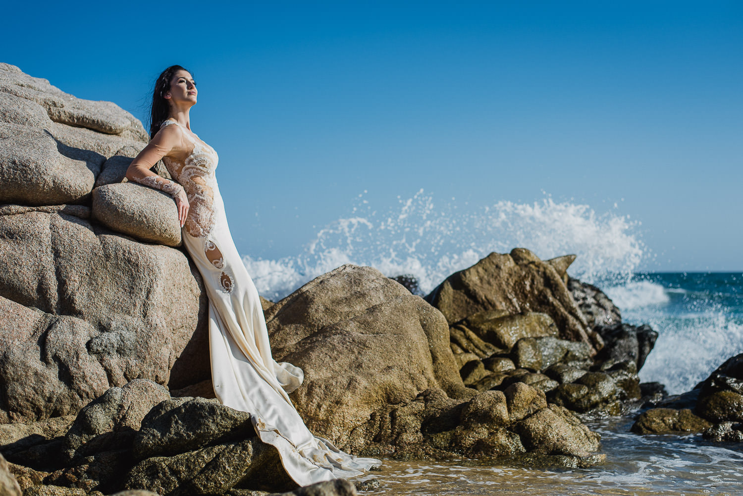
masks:
{"type": "MultiPolygon", "coordinates": [[[[160,128],[181,124],[166,120],[160,128]]],[[[287,393],[302,384],[299,367],[273,360],[263,309],[227,226],[211,146],[181,126],[193,151],[184,163],[163,162],[186,190],[189,213],[183,228],[186,249],[204,278],[209,295],[212,382],[224,405],[249,412],[263,442],[273,445],[300,486],[363,474],[380,460],[345,454],[314,436],[287,393]]]]}

